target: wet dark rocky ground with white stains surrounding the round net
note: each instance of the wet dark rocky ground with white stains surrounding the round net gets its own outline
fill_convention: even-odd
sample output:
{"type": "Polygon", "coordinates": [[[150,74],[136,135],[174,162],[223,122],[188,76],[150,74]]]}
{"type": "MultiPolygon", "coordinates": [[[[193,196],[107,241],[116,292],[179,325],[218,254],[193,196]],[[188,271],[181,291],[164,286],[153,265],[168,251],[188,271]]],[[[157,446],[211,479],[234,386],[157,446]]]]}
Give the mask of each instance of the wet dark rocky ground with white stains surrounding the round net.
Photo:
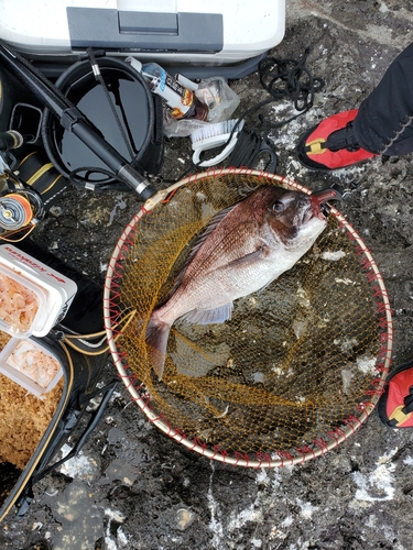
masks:
{"type": "MultiPolygon", "coordinates": [[[[383,275],[393,308],[395,364],[413,356],[413,158],[373,158],[325,174],[294,156],[301,133],[325,116],[357,107],[409,44],[412,2],[287,0],[286,33],[272,52],[298,58],[326,81],[313,109],[270,135],[278,173],[315,189],[356,189],[339,209],[360,233],[383,275]]],[[[267,97],[257,74],[230,82],[240,110],[267,97]]],[[[273,121],[294,114],[285,98],[263,109],[273,121]]],[[[248,121],[260,128],[257,114],[248,121]]],[[[191,167],[186,139],[167,142],[159,178],[191,167]]],[[[96,280],[137,197],[66,190],[36,240],[96,280]]],[[[116,376],[110,361],[101,384],[116,376]]],[[[72,436],[63,449],[76,440],[72,436]]],[[[389,430],[373,414],[322,458],[275,470],[210,461],[146,420],[120,384],[80,454],[40,482],[22,518],[0,525],[0,547],[17,550],[409,550],[413,432],[389,430]]]]}

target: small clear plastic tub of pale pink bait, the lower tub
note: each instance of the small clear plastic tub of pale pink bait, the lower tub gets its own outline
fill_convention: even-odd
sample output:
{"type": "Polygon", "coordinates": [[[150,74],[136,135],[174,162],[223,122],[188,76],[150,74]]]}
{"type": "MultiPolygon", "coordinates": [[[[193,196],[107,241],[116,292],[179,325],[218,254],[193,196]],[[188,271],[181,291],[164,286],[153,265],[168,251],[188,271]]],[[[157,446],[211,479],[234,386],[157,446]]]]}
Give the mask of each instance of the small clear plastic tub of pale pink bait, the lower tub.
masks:
{"type": "Polygon", "coordinates": [[[29,338],[10,339],[0,353],[0,372],[40,398],[63,375],[56,355],[29,338]]]}

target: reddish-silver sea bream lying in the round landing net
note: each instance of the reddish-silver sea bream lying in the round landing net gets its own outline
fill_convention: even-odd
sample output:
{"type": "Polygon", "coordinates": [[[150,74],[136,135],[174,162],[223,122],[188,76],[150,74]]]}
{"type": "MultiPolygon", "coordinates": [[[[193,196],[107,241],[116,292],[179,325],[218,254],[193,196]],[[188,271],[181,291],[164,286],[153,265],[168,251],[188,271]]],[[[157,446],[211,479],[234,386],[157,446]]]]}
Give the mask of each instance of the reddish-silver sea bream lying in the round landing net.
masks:
{"type": "Polygon", "coordinates": [[[262,186],[215,216],[194,246],[169,300],[154,309],[146,344],[162,378],[172,324],[209,324],[231,318],[233,300],[267,287],[290,270],[326,227],[311,197],[262,186]]]}

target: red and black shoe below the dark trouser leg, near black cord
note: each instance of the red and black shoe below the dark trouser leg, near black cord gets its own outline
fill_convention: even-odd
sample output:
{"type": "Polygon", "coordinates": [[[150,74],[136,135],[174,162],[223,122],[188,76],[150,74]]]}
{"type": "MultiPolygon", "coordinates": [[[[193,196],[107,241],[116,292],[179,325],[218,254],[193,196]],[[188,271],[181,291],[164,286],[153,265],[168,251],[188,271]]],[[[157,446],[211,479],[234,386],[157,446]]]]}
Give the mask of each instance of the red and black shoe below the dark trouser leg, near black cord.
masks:
{"type": "Polygon", "coordinates": [[[300,162],[307,168],[333,170],[378,156],[361,148],[355,139],[352,121],[357,112],[352,109],[333,114],[303,134],[296,146],[300,162]]]}

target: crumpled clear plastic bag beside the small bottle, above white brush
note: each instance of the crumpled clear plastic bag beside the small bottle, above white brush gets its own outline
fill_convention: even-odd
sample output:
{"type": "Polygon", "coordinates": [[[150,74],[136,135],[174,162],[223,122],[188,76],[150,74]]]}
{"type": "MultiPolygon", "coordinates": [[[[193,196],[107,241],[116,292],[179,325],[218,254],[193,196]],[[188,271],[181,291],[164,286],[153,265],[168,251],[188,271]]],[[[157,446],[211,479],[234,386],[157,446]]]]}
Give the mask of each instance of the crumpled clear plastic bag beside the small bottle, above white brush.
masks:
{"type": "Polygon", "coordinates": [[[164,134],[167,138],[185,138],[194,130],[228,120],[240,103],[237,94],[228,86],[226,78],[216,76],[200,80],[196,97],[208,107],[206,121],[172,118],[164,110],[164,134]]]}

